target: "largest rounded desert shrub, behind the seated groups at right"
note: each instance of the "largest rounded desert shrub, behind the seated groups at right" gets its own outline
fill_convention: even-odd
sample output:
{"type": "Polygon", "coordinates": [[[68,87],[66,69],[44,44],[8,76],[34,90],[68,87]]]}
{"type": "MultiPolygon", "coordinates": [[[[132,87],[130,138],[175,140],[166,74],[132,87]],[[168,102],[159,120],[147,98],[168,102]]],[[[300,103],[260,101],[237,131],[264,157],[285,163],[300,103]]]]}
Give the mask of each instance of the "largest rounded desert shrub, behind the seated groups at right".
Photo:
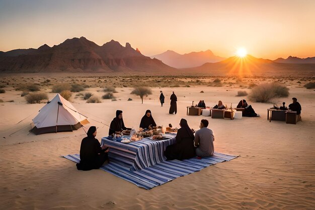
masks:
{"type": "Polygon", "coordinates": [[[288,97],[289,89],[277,83],[265,83],[253,88],[250,99],[253,102],[269,102],[273,98],[288,97]]]}

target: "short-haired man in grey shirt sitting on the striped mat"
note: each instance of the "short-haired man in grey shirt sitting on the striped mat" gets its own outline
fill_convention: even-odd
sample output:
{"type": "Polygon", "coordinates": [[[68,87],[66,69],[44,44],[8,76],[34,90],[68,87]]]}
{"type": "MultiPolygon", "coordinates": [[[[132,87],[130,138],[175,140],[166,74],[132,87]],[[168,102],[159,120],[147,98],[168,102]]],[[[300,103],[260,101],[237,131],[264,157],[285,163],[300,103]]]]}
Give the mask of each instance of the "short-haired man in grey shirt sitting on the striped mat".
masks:
{"type": "Polygon", "coordinates": [[[208,120],[202,119],[200,129],[195,133],[194,146],[198,157],[210,157],[214,152],[214,135],[212,130],[207,128],[208,124],[208,120]]]}

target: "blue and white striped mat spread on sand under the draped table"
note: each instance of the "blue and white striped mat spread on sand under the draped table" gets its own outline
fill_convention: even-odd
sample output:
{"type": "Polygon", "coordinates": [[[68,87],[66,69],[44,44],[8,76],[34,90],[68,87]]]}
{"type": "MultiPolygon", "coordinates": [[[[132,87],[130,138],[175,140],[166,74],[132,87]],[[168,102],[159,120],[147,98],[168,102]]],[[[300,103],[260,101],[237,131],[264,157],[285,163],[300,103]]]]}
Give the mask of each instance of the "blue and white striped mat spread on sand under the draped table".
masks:
{"type": "MultiPolygon", "coordinates": [[[[67,155],[64,158],[73,161],[75,163],[80,162],[80,155],[67,155]]],[[[238,156],[224,155],[221,153],[214,152],[212,157],[202,158],[191,158],[188,160],[173,160],[163,161],[138,171],[130,171],[130,167],[123,165],[121,162],[110,160],[110,163],[100,169],[107,171],[119,178],[122,178],[128,182],[131,182],[138,187],[145,189],[151,189],[158,185],[165,184],[166,182],[172,181],[180,176],[200,171],[201,169],[221,163],[224,161],[230,161],[238,156]]]]}

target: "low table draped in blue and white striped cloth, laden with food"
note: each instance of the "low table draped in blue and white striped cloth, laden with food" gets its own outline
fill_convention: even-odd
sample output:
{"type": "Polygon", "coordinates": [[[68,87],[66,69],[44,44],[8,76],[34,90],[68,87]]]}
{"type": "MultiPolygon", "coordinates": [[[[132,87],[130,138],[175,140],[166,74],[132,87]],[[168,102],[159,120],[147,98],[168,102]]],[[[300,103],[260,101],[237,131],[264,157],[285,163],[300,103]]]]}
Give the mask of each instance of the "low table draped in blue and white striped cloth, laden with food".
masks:
{"type": "Polygon", "coordinates": [[[121,143],[122,138],[107,136],[102,138],[101,144],[110,147],[108,156],[111,162],[119,162],[130,171],[137,171],[166,160],[164,151],[176,143],[176,138],[175,134],[164,136],[167,139],[154,141],[147,137],[128,144],[121,143]]]}

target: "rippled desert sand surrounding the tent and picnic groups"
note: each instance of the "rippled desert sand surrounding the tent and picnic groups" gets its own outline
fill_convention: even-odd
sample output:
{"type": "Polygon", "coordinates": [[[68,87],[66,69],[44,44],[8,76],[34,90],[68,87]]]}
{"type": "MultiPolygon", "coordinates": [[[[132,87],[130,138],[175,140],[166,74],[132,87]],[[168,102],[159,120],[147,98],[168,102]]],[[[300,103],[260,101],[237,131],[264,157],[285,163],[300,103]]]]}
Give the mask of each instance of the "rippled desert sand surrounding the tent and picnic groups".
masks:
{"type": "MultiPolygon", "coordinates": [[[[116,109],[123,110],[125,124],[135,128],[145,110],[150,109],[155,122],[163,126],[169,123],[179,126],[180,119],[185,118],[191,128],[198,129],[200,120],[208,119],[208,127],[215,135],[215,151],[240,155],[232,161],[145,190],[102,170],[78,171],[73,162],[61,157],[79,153],[81,140],[86,136],[84,129],[87,128],[41,135],[28,132],[31,119],[45,104],[27,104],[21,97],[21,91],[13,86],[27,82],[41,83],[47,78],[50,78],[51,84],[60,82],[58,75],[56,80],[51,75],[1,78],[3,83],[10,80],[4,87],[6,93],[0,94],[0,99],[4,101],[0,103],[1,209],[314,209],[315,92],[303,88],[305,80],[300,84],[297,83],[298,78],[292,81],[272,77],[247,78],[240,83],[234,79],[234,82],[229,84],[226,81],[220,87],[184,78],[180,80],[194,80],[190,87],[181,83],[179,87],[170,87],[164,85],[167,80],[164,78],[159,82],[163,85],[152,85],[153,94],[144,98],[143,104],[138,96],[130,95],[130,84],[127,87],[116,84],[118,93],[114,95],[117,101],[102,99],[102,103],[86,103],[80,97],[75,98],[75,93],[72,94],[72,105],[89,117],[91,123],[86,127],[99,127],[99,140],[108,134],[107,125],[115,117],[116,109]],[[291,98],[296,97],[302,106],[302,121],[297,124],[269,122],[267,108],[272,107],[272,103],[253,103],[248,96],[235,96],[239,90],[250,93],[248,84],[274,81],[285,83],[290,89],[289,97],[278,98],[274,102],[281,105],[284,101],[288,105],[291,98]],[[160,90],[166,96],[164,107],[159,102],[160,90]],[[172,91],[178,97],[176,115],[168,114],[172,91]],[[128,98],[133,100],[127,101],[128,98]],[[207,106],[212,107],[221,100],[228,107],[231,103],[236,107],[243,98],[261,117],[229,120],[186,116],[186,106],[192,101],[204,100],[207,106]],[[11,100],[14,102],[8,102],[11,100]]],[[[65,83],[73,79],[64,78],[65,83]]],[[[80,80],[83,79],[77,78],[77,81],[80,80]]],[[[84,92],[101,97],[104,95],[102,87],[115,83],[112,80],[104,82],[103,78],[101,82],[98,80],[96,77],[87,81],[94,85],[84,92]]],[[[144,79],[141,82],[147,81],[144,79]]],[[[55,96],[55,93],[50,93],[49,85],[41,85],[41,88],[48,93],[49,99],[55,96]]]]}

